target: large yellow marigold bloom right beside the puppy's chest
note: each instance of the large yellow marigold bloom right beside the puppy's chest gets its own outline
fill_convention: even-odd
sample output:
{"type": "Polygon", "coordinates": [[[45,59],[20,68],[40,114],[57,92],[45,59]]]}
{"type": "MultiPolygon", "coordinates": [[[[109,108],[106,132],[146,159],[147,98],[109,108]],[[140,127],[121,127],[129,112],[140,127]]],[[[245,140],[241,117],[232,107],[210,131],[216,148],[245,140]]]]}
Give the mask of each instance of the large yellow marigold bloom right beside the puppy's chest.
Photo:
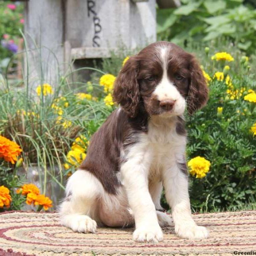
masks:
{"type": "Polygon", "coordinates": [[[203,178],[209,172],[211,163],[204,157],[194,157],[188,162],[189,172],[196,175],[196,178],[203,178]]]}

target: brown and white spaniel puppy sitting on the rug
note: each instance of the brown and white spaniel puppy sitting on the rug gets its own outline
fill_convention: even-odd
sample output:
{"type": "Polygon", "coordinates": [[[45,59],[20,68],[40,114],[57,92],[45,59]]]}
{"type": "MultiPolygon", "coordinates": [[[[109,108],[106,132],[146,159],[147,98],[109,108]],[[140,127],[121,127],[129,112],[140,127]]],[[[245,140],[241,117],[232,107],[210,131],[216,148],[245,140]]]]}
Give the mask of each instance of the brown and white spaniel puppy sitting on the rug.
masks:
{"type": "Polygon", "coordinates": [[[135,241],[161,241],[161,227],[204,239],[192,219],[183,113],[203,107],[208,88],[195,57],[160,41],[125,63],[116,78],[113,111],[93,135],[87,157],[67,181],[61,224],[75,232],[135,224],[135,241]],[[172,219],[161,212],[164,187],[172,219]]]}

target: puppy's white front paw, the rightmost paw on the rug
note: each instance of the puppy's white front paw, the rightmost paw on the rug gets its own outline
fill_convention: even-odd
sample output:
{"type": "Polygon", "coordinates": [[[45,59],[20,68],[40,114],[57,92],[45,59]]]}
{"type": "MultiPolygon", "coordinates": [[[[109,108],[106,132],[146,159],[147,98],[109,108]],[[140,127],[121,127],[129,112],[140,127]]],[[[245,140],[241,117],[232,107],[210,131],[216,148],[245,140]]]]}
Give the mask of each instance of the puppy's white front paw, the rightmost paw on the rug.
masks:
{"type": "Polygon", "coordinates": [[[209,237],[209,232],[205,227],[197,226],[195,224],[175,225],[175,232],[181,238],[186,239],[204,239],[209,237]]]}

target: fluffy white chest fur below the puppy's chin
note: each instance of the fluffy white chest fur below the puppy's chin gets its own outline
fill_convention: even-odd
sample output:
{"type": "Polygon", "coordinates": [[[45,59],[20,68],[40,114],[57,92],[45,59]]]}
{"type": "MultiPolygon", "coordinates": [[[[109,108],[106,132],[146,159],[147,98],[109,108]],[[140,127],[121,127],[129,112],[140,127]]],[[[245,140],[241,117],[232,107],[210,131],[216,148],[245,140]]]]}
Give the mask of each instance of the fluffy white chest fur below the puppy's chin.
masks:
{"type": "Polygon", "coordinates": [[[186,137],[177,134],[177,119],[151,119],[148,132],[125,151],[125,166],[141,166],[148,177],[159,178],[163,169],[184,161],[186,137]]]}

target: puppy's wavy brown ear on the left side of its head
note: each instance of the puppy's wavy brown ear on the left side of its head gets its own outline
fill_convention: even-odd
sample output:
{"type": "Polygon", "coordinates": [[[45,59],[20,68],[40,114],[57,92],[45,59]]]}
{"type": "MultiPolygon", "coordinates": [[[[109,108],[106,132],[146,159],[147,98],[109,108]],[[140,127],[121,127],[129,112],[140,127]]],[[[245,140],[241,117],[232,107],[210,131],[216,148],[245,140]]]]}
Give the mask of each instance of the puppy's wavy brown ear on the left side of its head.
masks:
{"type": "Polygon", "coordinates": [[[116,78],[113,90],[113,99],[121,105],[129,117],[137,115],[140,90],[137,81],[139,62],[136,56],[130,57],[116,78]]]}

